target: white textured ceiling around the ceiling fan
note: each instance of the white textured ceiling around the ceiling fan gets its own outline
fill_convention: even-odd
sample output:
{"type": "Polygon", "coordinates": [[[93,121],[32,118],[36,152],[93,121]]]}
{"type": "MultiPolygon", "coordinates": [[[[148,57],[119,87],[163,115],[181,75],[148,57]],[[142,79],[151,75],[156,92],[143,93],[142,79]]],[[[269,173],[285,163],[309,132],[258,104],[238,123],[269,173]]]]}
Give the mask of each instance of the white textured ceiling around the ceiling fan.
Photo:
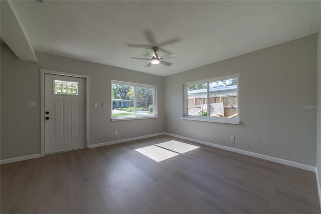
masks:
{"type": "Polygon", "coordinates": [[[36,51],[168,76],[317,32],[320,1],[12,2],[36,51]],[[163,44],[163,45],[162,45],[163,44]],[[133,47],[142,45],[141,47],[133,47]],[[177,53],[144,66],[144,48],[177,53]]]}

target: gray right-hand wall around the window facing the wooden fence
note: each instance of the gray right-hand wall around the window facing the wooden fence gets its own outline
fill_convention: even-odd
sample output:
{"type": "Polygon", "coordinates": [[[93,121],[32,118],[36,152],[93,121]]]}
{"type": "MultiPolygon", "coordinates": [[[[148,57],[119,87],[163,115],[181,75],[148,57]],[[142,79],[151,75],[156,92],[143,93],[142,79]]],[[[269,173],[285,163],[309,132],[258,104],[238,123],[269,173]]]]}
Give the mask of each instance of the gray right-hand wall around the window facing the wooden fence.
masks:
{"type": "Polygon", "coordinates": [[[316,34],[165,78],[166,132],[315,166],[316,109],[303,105],[316,105],[316,34]],[[240,125],[181,119],[183,83],[235,73],[240,125]]]}

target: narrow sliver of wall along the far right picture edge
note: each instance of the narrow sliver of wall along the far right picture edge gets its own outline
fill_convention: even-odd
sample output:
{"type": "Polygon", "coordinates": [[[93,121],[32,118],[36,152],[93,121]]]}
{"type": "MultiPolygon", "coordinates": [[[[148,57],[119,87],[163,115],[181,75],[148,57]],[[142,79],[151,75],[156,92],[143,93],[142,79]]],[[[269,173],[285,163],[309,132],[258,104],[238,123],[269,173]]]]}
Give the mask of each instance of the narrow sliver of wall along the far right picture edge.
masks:
{"type": "MultiPolygon", "coordinates": [[[[321,20],[319,31],[317,33],[317,106],[321,106],[321,20]]],[[[316,128],[316,167],[318,180],[321,181],[321,108],[317,109],[317,128],[316,128]]],[[[321,189],[319,189],[321,191],[321,189]]],[[[321,192],[319,192],[321,195],[321,192]]],[[[321,198],[320,198],[321,203],[321,198]]],[[[321,204],[320,204],[321,205],[321,204]]]]}

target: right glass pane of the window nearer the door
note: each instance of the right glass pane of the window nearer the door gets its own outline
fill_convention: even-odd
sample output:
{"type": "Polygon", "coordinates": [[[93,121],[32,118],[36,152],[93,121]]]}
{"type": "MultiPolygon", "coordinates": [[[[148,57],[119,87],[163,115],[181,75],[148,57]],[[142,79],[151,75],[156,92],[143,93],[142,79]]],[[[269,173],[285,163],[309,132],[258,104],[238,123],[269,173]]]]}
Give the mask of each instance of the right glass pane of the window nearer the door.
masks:
{"type": "Polygon", "coordinates": [[[153,115],[152,88],[136,87],[136,116],[153,115]]]}

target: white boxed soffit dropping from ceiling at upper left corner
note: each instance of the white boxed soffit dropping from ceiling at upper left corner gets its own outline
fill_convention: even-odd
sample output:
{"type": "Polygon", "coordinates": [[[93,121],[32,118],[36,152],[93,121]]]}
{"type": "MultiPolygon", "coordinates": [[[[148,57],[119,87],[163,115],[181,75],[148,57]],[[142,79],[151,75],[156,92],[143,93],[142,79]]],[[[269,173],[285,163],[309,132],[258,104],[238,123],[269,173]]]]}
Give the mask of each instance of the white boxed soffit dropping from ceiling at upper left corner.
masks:
{"type": "Polygon", "coordinates": [[[1,2],[1,38],[20,60],[38,63],[21,21],[9,1],[1,2]]]}

